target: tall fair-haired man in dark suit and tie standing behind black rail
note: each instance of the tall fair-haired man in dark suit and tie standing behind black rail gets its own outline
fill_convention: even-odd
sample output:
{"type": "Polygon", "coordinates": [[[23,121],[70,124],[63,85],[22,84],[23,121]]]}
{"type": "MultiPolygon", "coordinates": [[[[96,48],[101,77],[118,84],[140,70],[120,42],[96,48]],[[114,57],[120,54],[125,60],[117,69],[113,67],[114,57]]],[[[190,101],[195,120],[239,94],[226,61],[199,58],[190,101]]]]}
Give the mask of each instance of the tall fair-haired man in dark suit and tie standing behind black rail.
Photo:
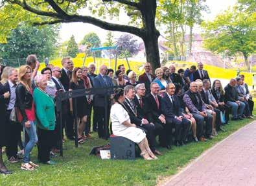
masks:
{"type": "MultiPolygon", "coordinates": [[[[69,84],[71,80],[71,73],[69,71],[70,68],[71,68],[70,57],[67,56],[65,58],[62,58],[62,75],[60,76],[60,82],[62,82],[62,85],[64,86],[65,91],[69,91],[69,84]]],[[[73,129],[73,126],[74,126],[73,116],[69,111],[70,110],[69,102],[67,104],[68,104],[68,111],[67,111],[65,134],[67,135],[68,139],[74,140],[75,132],[73,129]]]]}

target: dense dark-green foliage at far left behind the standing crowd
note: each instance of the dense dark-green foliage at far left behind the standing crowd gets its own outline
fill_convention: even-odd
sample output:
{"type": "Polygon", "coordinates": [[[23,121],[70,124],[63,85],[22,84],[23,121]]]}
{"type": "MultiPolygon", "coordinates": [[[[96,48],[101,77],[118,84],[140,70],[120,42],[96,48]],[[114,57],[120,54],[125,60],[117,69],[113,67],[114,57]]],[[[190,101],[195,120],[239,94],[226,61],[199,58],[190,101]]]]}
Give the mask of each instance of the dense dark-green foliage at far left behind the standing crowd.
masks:
{"type": "Polygon", "coordinates": [[[27,58],[29,54],[36,54],[39,57],[51,57],[56,51],[58,33],[58,26],[32,27],[21,24],[10,31],[6,43],[0,44],[0,56],[27,58]]]}

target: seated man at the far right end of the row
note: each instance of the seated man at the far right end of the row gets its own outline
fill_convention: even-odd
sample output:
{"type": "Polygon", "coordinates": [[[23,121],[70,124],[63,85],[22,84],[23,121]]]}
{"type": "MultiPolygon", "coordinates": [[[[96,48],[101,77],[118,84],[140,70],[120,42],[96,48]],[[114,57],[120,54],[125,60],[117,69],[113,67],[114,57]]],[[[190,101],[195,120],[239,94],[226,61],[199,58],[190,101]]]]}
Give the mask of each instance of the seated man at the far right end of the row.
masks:
{"type": "Polygon", "coordinates": [[[246,90],[244,89],[244,87],[242,87],[242,79],[238,76],[237,78],[235,78],[235,80],[237,80],[237,86],[235,86],[235,88],[237,90],[237,95],[239,96],[239,100],[244,104],[246,104],[244,108],[244,115],[245,117],[253,119],[253,117],[251,116],[249,102],[248,102],[248,99],[246,98],[246,90]]]}

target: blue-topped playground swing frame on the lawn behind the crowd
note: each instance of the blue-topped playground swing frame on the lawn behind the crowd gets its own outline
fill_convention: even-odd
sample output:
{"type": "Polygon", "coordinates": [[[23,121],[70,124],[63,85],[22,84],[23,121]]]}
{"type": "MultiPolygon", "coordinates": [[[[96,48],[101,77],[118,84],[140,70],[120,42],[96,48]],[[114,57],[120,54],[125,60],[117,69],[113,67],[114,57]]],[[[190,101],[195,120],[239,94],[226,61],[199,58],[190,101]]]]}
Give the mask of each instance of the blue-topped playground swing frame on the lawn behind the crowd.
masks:
{"type": "MultiPolygon", "coordinates": [[[[84,62],[83,62],[83,66],[86,62],[86,58],[87,58],[87,55],[89,52],[91,52],[91,54],[93,55],[93,63],[96,65],[96,57],[95,57],[95,52],[97,51],[114,51],[114,58],[115,58],[115,71],[117,71],[117,57],[118,57],[118,51],[121,51],[121,52],[124,52],[124,56],[125,56],[125,59],[126,59],[126,63],[128,65],[128,68],[130,68],[130,64],[129,64],[129,61],[128,61],[128,58],[126,56],[126,53],[124,51],[124,49],[122,49],[121,47],[118,47],[118,46],[113,46],[113,47],[97,47],[97,48],[90,48],[90,49],[87,49],[85,51],[85,56],[84,56],[84,62]]],[[[109,54],[109,63],[111,63],[111,54],[109,54]]]]}

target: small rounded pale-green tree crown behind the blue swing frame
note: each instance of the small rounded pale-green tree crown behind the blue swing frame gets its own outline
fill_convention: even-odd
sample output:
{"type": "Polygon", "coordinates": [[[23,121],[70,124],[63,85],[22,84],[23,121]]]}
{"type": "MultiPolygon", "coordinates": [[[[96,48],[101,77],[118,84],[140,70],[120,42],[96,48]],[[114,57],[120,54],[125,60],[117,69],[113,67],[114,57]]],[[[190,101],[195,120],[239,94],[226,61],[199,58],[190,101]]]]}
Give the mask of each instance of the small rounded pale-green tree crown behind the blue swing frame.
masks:
{"type": "MultiPolygon", "coordinates": [[[[101,41],[99,36],[95,32],[90,32],[89,34],[86,34],[81,41],[82,45],[87,45],[87,48],[95,48],[100,47],[101,41]]],[[[97,51],[95,52],[96,57],[100,57],[101,52],[97,51]]]]}

